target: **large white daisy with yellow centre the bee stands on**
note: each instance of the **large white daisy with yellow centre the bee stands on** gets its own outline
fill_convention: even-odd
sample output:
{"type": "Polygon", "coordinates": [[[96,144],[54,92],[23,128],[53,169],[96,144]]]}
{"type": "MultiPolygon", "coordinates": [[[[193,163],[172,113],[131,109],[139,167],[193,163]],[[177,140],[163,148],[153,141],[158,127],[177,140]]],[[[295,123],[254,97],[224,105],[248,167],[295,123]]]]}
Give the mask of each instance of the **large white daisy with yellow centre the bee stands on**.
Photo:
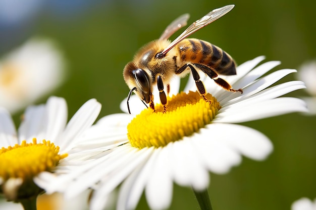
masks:
{"type": "MultiPolygon", "coordinates": [[[[234,89],[242,88],[242,94],[227,92],[205,78],[211,103],[199,96],[191,79],[184,92],[168,98],[166,113],[162,113],[161,104],[156,104],[153,112],[132,97],[131,111],[141,110],[140,114],[103,117],[84,134],[90,141],[77,146],[89,148],[86,163],[71,169],[60,165],[57,171],[65,174],[55,179],[38,176],[37,183],[48,193],[62,191],[66,197],[92,188],[92,210],[103,209],[108,195],[120,184],[117,209],[134,209],[143,191],[151,209],[168,208],[173,182],[192,187],[198,199],[205,198],[209,172],[227,173],[241,163],[242,156],[259,161],[273,150],[267,136],[235,123],[306,111],[300,99],[278,98],[305,88],[302,82],[272,86],[296,71],[282,69],[262,76],[280,64],[258,65],[262,60],[263,56],[247,61],[238,66],[236,76],[225,77],[234,89]]],[[[179,82],[172,86],[176,84],[173,92],[179,91],[179,82]]],[[[127,112],[125,107],[126,100],[123,108],[127,112]]]]}

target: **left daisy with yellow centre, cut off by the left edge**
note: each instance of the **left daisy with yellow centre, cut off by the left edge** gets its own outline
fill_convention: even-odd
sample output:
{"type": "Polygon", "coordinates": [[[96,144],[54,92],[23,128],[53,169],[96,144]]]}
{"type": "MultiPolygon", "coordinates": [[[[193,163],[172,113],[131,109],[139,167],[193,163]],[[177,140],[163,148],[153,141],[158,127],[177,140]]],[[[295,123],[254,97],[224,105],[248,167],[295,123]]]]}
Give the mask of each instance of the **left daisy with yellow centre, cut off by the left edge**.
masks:
{"type": "Polygon", "coordinates": [[[34,183],[36,176],[54,174],[60,162],[67,165],[76,139],[93,124],[100,109],[91,99],[67,124],[65,99],[50,97],[45,105],[28,107],[16,131],[9,112],[0,108],[0,192],[7,200],[23,205],[36,201],[42,192],[34,183]]]}

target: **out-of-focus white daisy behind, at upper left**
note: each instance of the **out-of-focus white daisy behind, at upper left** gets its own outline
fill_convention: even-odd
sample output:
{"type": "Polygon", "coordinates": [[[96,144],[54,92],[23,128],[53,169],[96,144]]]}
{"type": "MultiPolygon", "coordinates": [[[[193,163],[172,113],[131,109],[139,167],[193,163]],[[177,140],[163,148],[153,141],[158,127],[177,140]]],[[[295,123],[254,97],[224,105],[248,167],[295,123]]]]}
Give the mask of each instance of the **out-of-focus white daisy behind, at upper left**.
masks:
{"type": "Polygon", "coordinates": [[[0,59],[0,106],[14,113],[56,89],[64,58],[47,39],[31,39],[0,59]]]}

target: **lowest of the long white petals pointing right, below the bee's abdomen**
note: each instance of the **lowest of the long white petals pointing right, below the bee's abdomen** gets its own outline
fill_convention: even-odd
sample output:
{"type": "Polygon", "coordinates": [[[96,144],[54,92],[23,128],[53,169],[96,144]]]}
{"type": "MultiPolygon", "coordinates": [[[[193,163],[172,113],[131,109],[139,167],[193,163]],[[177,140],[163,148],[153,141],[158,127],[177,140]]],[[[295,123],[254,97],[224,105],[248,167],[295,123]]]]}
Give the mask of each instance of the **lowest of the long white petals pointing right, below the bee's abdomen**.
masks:
{"type": "MultiPolygon", "coordinates": [[[[242,105],[242,104],[241,104],[242,105]]],[[[221,111],[221,110],[220,110],[221,111]]],[[[278,116],[291,112],[307,112],[306,104],[297,98],[275,98],[245,106],[231,106],[216,115],[213,122],[239,123],[278,116]]]]}

